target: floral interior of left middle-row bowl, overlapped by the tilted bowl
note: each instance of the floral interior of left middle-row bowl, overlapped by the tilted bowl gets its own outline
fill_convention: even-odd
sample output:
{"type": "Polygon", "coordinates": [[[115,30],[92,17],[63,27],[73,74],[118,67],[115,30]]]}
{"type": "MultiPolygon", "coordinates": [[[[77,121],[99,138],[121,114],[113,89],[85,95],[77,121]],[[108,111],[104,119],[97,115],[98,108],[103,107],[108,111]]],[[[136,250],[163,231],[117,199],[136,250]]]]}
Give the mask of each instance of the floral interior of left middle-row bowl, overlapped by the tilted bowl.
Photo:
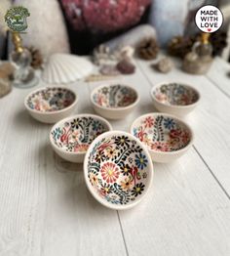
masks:
{"type": "Polygon", "coordinates": [[[96,137],[109,131],[108,125],[92,116],[72,118],[56,125],[51,136],[59,149],[67,152],[86,152],[96,137]]]}

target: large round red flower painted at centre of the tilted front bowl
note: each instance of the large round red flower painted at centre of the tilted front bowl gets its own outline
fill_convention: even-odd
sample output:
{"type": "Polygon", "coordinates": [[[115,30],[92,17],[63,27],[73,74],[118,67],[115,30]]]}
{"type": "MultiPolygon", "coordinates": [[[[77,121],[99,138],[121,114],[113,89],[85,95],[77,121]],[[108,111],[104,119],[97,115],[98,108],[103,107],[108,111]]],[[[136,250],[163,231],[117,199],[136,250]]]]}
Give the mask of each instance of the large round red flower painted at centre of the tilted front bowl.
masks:
{"type": "Polygon", "coordinates": [[[112,162],[106,162],[101,167],[101,176],[107,183],[115,183],[119,174],[119,167],[112,162]]]}

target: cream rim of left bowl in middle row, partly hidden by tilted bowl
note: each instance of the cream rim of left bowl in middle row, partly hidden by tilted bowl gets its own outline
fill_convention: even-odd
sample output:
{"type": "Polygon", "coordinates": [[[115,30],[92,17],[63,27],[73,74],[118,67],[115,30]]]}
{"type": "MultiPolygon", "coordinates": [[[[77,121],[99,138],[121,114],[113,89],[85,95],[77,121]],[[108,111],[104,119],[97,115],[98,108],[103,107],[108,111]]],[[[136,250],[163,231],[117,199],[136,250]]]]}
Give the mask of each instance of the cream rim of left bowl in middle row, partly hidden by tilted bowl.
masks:
{"type": "MultiPolygon", "coordinates": [[[[50,134],[49,134],[49,138],[50,138],[50,143],[52,145],[52,147],[54,147],[55,149],[58,149],[59,152],[61,153],[66,153],[68,155],[83,155],[87,152],[86,151],[80,151],[80,152],[69,152],[69,151],[66,151],[65,149],[62,149],[62,148],[59,148],[55,143],[54,143],[54,140],[53,140],[53,137],[52,137],[52,132],[54,129],[56,129],[60,124],[62,124],[63,122],[66,122],[66,121],[69,121],[71,119],[74,119],[74,118],[78,118],[78,117],[93,117],[97,120],[100,120],[102,121],[103,123],[106,124],[107,128],[108,128],[108,131],[112,131],[113,130],[113,127],[112,125],[103,117],[101,116],[98,116],[96,114],[91,114],[91,113],[81,113],[81,114],[75,114],[75,115],[71,115],[71,116],[68,116],[66,118],[63,118],[61,120],[59,120],[55,125],[53,125],[53,127],[51,128],[50,130],[50,134]]],[[[96,137],[97,138],[97,137],[96,137]]],[[[94,142],[94,141],[93,141],[94,142]]],[[[92,143],[93,143],[92,142],[92,143]]]]}

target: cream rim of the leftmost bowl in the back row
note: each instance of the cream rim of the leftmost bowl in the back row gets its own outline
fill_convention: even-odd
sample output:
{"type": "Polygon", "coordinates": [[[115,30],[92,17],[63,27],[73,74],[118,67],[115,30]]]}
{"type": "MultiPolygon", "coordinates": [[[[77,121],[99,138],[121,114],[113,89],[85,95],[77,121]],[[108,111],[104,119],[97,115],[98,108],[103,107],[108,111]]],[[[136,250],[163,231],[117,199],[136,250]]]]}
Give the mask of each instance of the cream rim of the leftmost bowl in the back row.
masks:
{"type": "Polygon", "coordinates": [[[78,103],[78,95],[77,95],[77,93],[75,93],[74,90],[72,90],[72,89],[70,89],[70,88],[67,88],[67,87],[64,87],[64,86],[46,86],[46,87],[41,87],[41,88],[38,88],[38,89],[36,89],[36,90],[30,92],[30,93],[27,94],[27,96],[24,98],[24,107],[25,107],[28,111],[33,112],[33,113],[38,113],[38,114],[44,114],[44,115],[52,115],[52,114],[64,112],[64,111],[70,109],[71,107],[74,107],[77,103],[78,103]],[[71,103],[71,105],[69,105],[68,107],[64,107],[64,108],[62,108],[62,109],[55,110],[55,111],[50,111],[50,112],[48,112],[48,111],[43,112],[43,111],[40,111],[40,110],[37,110],[37,109],[32,109],[32,108],[28,107],[28,105],[27,105],[27,100],[28,100],[28,98],[29,98],[32,94],[35,94],[35,93],[40,92],[40,91],[45,91],[45,90],[47,90],[47,89],[52,89],[52,88],[64,89],[64,90],[67,90],[67,91],[71,92],[71,93],[74,95],[74,97],[75,97],[74,101],[73,101],[73,102],[71,103]]]}

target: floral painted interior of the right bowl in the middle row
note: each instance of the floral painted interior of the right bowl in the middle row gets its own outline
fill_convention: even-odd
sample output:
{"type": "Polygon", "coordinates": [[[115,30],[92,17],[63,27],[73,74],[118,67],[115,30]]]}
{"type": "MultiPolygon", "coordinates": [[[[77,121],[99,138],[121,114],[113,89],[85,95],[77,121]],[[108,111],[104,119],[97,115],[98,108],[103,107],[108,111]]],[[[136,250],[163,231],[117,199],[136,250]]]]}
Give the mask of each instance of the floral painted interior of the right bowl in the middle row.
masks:
{"type": "Polygon", "coordinates": [[[132,134],[148,149],[163,152],[183,149],[191,141],[191,133],[182,122],[160,114],[138,118],[132,134]]]}

